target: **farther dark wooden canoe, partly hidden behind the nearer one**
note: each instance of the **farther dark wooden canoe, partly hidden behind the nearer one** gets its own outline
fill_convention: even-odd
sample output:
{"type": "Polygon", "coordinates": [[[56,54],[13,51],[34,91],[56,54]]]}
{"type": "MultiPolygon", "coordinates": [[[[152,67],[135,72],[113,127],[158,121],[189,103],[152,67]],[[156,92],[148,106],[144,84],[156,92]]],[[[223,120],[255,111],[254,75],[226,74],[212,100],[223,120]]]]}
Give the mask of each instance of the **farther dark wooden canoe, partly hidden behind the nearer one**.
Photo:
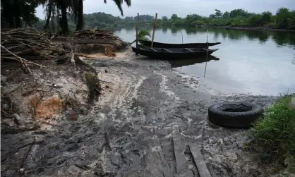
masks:
{"type": "MultiPolygon", "coordinates": [[[[139,40],[140,44],[150,47],[152,42],[139,40]]],[[[217,44],[221,44],[220,42],[210,43],[208,42],[208,47],[215,46],[217,44]]],[[[169,43],[160,43],[154,42],[152,47],[159,47],[159,48],[207,48],[207,43],[185,43],[185,44],[169,44],[169,43]]]]}

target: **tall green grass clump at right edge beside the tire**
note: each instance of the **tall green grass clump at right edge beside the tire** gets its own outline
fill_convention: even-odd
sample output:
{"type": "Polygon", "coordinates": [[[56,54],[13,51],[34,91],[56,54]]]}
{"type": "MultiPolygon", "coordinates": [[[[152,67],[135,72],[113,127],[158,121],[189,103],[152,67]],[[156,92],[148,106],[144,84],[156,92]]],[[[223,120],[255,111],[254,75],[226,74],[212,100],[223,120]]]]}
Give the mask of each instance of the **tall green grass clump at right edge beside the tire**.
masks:
{"type": "Polygon", "coordinates": [[[295,109],[288,109],[291,97],[279,99],[255,122],[251,132],[254,139],[249,145],[263,161],[295,173],[295,109]]]}

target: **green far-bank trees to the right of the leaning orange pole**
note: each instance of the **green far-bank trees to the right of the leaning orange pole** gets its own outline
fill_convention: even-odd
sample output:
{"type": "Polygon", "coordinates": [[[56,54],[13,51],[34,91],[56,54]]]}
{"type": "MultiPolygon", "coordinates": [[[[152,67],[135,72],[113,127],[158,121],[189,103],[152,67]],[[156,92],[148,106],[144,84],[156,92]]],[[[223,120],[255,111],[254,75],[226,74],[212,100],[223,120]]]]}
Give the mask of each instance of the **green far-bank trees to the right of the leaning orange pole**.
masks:
{"type": "Polygon", "coordinates": [[[269,28],[289,28],[295,29],[295,11],[288,8],[279,8],[276,14],[270,11],[263,13],[249,13],[243,9],[234,9],[222,13],[215,9],[215,13],[209,17],[191,14],[186,18],[180,18],[173,14],[171,18],[166,16],[157,22],[159,25],[210,25],[210,26],[241,26],[241,27],[261,27],[269,28]]]}

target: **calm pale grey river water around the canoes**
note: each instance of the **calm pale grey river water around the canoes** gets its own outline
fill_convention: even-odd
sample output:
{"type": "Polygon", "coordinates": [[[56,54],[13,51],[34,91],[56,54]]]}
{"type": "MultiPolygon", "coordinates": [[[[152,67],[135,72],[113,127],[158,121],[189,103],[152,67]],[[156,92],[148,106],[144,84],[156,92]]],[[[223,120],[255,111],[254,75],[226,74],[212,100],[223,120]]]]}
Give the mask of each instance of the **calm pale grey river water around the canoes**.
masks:
{"type": "MultiPolygon", "coordinates": [[[[151,27],[145,29],[152,34],[151,27]]],[[[136,38],[134,27],[114,31],[126,42],[136,38]]],[[[171,66],[226,93],[278,95],[295,92],[295,32],[221,28],[209,28],[208,32],[206,28],[157,28],[155,31],[156,42],[206,42],[207,38],[208,42],[222,43],[210,47],[219,49],[212,54],[214,57],[173,61],[171,66]]]]}

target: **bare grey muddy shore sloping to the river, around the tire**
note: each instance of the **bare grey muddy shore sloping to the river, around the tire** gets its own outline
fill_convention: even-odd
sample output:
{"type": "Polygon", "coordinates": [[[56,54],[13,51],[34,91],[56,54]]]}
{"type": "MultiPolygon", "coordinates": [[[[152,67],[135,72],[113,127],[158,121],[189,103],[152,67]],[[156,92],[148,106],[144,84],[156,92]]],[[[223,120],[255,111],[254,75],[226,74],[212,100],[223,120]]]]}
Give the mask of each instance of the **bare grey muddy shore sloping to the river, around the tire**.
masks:
{"type": "Polygon", "coordinates": [[[189,146],[200,147],[212,176],[269,176],[242,151],[246,131],[211,125],[207,108],[266,107],[275,97],[224,95],[130,50],[86,62],[106,81],[100,99],[76,121],[64,114],[54,126],[2,134],[2,176],[198,176],[189,146]]]}

